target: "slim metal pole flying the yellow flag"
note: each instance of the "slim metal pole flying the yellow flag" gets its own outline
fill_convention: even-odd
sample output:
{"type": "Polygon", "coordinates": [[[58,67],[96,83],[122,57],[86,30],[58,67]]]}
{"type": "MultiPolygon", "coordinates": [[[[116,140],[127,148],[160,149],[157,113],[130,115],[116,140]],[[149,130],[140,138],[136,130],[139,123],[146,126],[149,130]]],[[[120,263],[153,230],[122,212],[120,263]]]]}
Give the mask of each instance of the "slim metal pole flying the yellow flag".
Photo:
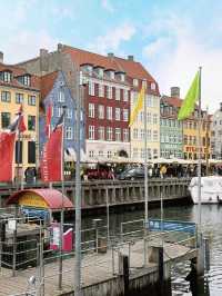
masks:
{"type": "MultiPolygon", "coordinates": [[[[147,81],[144,80],[144,82],[147,83],[147,81]]],[[[145,88],[147,89],[147,88],[145,88]]],[[[144,194],[145,194],[145,227],[148,227],[148,122],[147,122],[147,96],[144,93],[144,149],[145,149],[145,154],[144,154],[144,194]]]]}

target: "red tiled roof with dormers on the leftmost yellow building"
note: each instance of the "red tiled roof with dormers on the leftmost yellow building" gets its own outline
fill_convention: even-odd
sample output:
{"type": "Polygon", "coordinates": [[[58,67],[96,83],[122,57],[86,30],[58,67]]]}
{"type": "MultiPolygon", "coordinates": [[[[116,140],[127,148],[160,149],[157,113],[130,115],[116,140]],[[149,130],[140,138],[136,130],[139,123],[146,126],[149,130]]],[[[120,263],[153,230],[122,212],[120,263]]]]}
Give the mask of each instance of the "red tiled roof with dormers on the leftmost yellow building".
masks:
{"type": "Polygon", "coordinates": [[[17,78],[23,75],[29,75],[26,69],[18,66],[0,63],[0,71],[7,71],[7,70],[12,72],[12,80],[10,82],[4,82],[0,80],[1,86],[11,86],[17,88],[33,89],[33,90],[40,89],[40,78],[38,76],[30,75],[31,83],[30,86],[24,86],[21,82],[19,82],[17,78]]]}

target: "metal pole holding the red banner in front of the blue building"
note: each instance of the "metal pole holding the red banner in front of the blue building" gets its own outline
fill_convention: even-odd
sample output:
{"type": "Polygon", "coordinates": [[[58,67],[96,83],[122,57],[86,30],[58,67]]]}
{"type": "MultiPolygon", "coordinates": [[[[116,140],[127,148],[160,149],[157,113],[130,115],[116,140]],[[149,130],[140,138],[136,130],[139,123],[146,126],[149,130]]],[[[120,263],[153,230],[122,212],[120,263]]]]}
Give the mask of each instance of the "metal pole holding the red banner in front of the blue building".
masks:
{"type": "Polygon", "coordinates": [[[62,205],[60,215],[60,256],[59,256],[59,289],[62,289],[62,248],[63,248],[63,226],[64,226],[64,122],[65,122],[65,106],[63,108],[63,124],[62,124],[62,165],[61,165],[61,176],[62,176],[62,205]]]}

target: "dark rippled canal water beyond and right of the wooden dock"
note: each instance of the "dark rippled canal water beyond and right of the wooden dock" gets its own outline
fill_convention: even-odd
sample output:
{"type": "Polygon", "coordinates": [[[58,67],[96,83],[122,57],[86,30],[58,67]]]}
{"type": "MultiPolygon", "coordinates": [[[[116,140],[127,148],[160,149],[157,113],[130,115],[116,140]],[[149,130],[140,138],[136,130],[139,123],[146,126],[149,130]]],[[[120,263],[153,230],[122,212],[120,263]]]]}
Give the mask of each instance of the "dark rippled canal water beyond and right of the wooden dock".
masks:
{"type": "MultiPolygon", "coordinates": [[[[122,221],[141,219],[144,217],[142,210],[110,214],[110,234],[120,233],[122,221]]],[[[160,209],[150,209],[149,217],[160,218],[160,209]]],[[[83,219],[83,226],[89,227],[94,217],[83,219]]],[[[105,224],[105,215],[99,216],[105,224]]],[[[178,219],[185,221],[198,221],[198,206],[173,206],[164,208],[165,219],[178,219]]],[[[222,296],[222,206],[202,206],[202,230],[210,238],[211,268],[200,280],[198,292],[191,292],[190,283],[185,280],[190,272],[190,263],[178,264],[172,268],[172,295],[181,296],[222,296]]]]}

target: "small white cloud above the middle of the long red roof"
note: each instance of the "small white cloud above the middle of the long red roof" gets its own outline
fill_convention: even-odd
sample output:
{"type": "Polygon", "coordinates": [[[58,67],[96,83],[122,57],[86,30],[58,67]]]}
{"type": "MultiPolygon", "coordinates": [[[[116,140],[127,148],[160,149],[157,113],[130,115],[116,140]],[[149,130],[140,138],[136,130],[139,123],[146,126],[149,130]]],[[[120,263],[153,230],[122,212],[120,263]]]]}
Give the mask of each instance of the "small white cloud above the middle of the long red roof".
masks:
{"type": "Polygon", "coordinates": [[[108,51],[119,51],[120,45],[123,41],[129,41],[135,33],[134,26],[123,23],[110,30],[104,36],[99,36],[95,41],[88,46],[92,51],[107,55],[108,51]]]}

